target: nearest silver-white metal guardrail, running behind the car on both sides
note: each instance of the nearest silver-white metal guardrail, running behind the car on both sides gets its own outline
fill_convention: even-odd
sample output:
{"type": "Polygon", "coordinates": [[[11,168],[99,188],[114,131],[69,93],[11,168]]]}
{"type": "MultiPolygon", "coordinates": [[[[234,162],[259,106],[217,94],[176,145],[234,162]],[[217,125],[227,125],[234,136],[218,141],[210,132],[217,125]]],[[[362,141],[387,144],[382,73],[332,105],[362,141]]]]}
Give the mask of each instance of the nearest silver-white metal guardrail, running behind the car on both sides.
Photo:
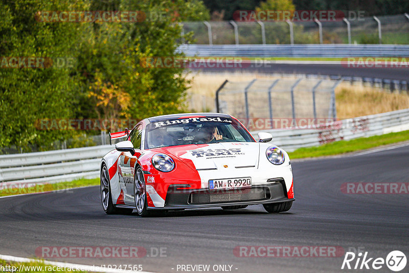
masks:
{"type": "MultiPolygon", "coordinates": [[[[409,109],[335,122],[323,129],[273,129],[274,143],[287,151],[338,140],[409,130],[409,109]]],[[[259,131],[252,134],[257,137],[259,131]]],[[[113,146],[0,155],[0,182],[56,183],[99,176],[101,157],[113,146]]]]}

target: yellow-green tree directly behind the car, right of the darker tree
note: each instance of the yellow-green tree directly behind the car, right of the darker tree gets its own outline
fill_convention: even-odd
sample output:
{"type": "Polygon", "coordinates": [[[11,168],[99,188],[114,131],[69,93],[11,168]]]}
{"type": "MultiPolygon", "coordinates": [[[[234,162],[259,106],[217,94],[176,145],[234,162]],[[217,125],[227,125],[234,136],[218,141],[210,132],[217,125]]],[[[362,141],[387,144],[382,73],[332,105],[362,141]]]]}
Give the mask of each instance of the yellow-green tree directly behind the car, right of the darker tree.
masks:
{"type": "MultiPolygon", "coordinates": [[[[200,1],[124,0],[117,5],[120,10],[143,11],[146,19],[89,26],[90,34],[81,44],[76,70],[81,78],[81,96],[89,97],[89,92],[98,94],[99,90],[88,90],[97,81],[98,71],[99,80],[129,94],[130,104],[123,109],[123,117],[139,120],[183,110],[189,84],[183,67],[151,68],[141,63],[147,57],[183,57],[176,52],[182,38],[178,22],[208,19],[209,12],[200,1]]],[[[184,38],[191,40],[191,34],[184,38]]],[[[84,106],[87,105],[78,105],[79,113],[86,111],[84,106]]]]}

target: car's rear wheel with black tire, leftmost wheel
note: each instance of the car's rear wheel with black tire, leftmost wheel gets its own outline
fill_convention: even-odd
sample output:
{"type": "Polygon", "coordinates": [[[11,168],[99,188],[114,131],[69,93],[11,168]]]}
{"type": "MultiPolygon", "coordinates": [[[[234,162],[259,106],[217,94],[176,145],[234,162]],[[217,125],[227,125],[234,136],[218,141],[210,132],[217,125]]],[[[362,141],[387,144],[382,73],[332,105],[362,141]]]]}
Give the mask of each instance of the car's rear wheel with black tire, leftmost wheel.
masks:
{"type": "Polygon", "coordinates": [[[133,209],[116,208],[112,203],[111,185],[109,180],[108,169],[104,164],[101,169],[101,201],[104,212],[106,214],[131,214],[133,209]]]}

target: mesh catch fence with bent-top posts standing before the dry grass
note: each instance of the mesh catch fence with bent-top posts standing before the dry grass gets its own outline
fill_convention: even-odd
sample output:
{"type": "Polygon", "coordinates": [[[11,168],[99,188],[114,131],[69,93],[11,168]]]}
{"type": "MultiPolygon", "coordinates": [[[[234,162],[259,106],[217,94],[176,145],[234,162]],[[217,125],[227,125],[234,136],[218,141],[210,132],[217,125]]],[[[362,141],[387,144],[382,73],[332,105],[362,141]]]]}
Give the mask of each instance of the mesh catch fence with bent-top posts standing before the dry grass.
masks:
{"type": "MultiPolygon", "coordinates": [[[[226,80],[216,92],[217,112],[239,119],[336,119],[338,81],[307,78],[226,80]]],[[[274,129],[274,124],[271,124],[274,129]]]]}

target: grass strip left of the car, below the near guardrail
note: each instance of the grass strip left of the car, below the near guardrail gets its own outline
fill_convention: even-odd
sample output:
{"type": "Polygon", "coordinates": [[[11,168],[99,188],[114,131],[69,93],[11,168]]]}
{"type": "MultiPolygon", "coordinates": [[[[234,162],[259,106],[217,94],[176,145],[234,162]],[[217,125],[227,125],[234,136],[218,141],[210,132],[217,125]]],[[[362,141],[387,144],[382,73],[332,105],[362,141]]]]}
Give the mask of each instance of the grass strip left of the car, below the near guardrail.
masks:
{"type": "Polygon", "coordinates": [[[57,191],[64,189],[71,189],[85,186],[96,186],[100,184],[99,178],[93,179],[77,179],[73,181],[66,181],[60,183],[0,183],[0,196],[25,194],[25,193],[40,193],[57,191]]]}

